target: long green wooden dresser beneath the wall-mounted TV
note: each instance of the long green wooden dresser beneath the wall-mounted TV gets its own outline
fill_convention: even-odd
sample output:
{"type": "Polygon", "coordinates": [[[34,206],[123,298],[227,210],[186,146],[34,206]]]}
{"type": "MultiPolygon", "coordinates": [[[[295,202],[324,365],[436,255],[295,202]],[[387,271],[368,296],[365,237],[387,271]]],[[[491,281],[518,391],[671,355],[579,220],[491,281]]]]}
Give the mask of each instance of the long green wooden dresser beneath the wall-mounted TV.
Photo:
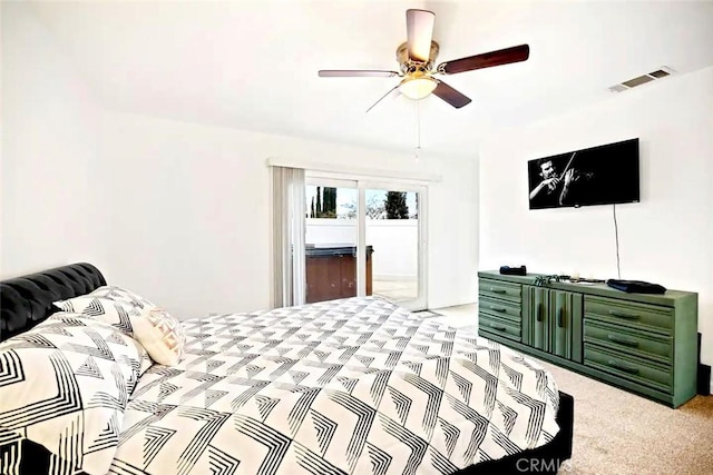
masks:
{"type": "Polygon", "coordinates": [[[697,301],[478,273],[480,336],[672,407],[695,396],[697,301]]]}

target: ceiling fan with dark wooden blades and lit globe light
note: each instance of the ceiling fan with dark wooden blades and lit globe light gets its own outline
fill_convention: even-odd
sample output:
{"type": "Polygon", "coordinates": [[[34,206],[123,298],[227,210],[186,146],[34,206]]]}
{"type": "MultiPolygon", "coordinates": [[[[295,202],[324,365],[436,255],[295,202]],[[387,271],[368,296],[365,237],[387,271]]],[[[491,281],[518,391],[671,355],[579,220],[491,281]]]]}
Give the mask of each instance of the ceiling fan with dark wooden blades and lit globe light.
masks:
{"type": "Polygon", "coordinates": [[[455,108],[460,109],[470,103],[471,99],[451,88],[442,80],[437,79],[434,77],[436,75],[456,75],[475,69],[509,65],[511,62],[525,61],[529,57],[530,47],[528,44],[520,44],[452,61],[445,61],[433,67],[439,51],[438,43],[432,40],[434,20],[436,13],[432,11],[414,9],[406,11],[408,40],[397,48],[397,61],[401,65],[400,72],[369,69],[323,69],[320,70],[320,77],[403,78],[397,86],[389,90],[389,92],[367,109],[367,112],[397,89],[403,96],[414,100],[422,99],[432,92],[455,108]]]}

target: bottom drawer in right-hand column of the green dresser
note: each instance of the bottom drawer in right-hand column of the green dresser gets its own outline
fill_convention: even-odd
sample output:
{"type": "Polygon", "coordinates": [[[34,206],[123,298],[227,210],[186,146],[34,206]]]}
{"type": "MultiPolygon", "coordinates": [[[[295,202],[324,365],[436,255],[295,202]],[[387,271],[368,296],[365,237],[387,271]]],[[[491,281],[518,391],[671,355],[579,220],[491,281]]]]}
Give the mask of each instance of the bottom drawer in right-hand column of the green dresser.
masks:
{"type": "Polygon", "coordinates": [[[584,345],[584,364],[665,393],[671,393],[672,389],[671,366],[624,356],[621,353],[609,353],[588,343],[584,345]]]}

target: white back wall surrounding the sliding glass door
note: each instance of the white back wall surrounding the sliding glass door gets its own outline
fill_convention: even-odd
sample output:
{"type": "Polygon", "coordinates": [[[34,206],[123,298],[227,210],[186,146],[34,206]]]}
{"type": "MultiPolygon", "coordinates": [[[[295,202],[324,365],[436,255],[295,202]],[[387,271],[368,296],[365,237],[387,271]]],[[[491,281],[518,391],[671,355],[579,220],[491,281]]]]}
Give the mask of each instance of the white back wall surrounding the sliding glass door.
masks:
{"type": "Polygon", "coordinates": [[[417,164],[406,154],[116,112],[101,129],[100,209],[111,222],[100,267],[179,317],[268,307],[267,157],[442,175],[429,190],[429,306],[475,300],[476,158],[417,164]]]}

